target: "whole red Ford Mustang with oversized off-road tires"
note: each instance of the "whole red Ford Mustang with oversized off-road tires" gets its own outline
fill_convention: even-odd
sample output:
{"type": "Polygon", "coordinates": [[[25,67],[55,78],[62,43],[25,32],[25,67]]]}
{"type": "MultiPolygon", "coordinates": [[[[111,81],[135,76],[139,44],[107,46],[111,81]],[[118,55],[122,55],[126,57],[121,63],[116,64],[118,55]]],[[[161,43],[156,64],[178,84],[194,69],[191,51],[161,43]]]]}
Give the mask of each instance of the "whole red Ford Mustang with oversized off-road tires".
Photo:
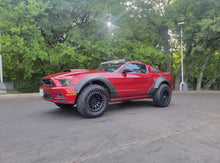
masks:
{"type": "Polygon", "coordinates": [[[61,108],[76,104],[87,118],[101,116],[108,102],[152,98],[155,106],[170,104],[173,77],[170,73],[125,59],[101,63],[98,70],[71,69],[42,79],[40,94],[61,108]]]}

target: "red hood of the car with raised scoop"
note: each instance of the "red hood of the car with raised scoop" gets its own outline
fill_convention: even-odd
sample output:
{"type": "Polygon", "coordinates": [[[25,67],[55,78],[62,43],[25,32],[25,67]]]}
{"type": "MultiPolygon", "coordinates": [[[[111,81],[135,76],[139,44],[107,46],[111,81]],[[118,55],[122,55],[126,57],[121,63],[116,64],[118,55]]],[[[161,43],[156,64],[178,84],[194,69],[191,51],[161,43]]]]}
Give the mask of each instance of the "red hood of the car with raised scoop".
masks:
{"type": "Polygon", "coordinates": [[[45,76],[44,78],[57,78],[57,79],[71,79],[74,76],[81,75],[81,74],[89,74],[89,73],[99,73],[105,71],[98,71],[98,70],[86,70],[86,69],[69,69],[65,70],[64,72],[52,74],[45,76]]]}

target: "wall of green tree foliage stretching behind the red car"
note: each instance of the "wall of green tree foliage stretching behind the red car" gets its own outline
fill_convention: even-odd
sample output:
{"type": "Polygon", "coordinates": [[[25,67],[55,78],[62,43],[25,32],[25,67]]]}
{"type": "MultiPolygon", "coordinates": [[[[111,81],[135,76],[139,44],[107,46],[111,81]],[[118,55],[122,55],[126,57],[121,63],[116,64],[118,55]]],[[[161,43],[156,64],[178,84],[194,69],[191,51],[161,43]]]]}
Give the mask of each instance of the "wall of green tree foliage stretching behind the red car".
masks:
{"type": "Polygon", "coordinates": [[[178,77],[180,47],[172,40],[180,21],[187,82],[219,86],[219,0],[2,0],[0,20],[4,80],[26,92],[37,91],[42,76],[119,58],[178,77]]]}

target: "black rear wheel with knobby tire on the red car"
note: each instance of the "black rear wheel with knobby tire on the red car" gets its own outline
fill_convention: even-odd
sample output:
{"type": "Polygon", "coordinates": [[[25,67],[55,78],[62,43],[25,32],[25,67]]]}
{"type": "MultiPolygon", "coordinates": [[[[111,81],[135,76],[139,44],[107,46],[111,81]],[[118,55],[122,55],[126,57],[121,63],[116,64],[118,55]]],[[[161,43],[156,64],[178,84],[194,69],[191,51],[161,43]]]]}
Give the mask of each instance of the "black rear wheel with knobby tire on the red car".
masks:
{"type": "Polygon", "coordinates": [[[170,104],[172,92],[167,84],[161,84],[153,94],[153,103],[158,107],[166,107],[170,104]]]}

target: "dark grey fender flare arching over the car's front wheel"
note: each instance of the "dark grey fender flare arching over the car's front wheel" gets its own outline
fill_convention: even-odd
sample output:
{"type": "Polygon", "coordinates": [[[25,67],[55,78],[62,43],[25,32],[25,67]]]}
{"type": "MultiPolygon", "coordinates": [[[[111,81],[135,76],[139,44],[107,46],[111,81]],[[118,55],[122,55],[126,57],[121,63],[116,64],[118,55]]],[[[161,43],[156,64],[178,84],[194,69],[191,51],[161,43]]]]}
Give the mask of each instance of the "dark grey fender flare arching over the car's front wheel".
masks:
{"type": "Polygon", "coordinates": [[[115,89],[114,85],[105,77],[98,76],[98,75],[92,75],[87,76],[83,79],[81,79],[74,88],[74,93],[79,93],[84,86],[88,85],[89,83],[92,83],[94,81],[99,81],[104,83],[108,89],[110,90],[111,98],[116,99],[119,98],[118,91],[115,89]]]}

